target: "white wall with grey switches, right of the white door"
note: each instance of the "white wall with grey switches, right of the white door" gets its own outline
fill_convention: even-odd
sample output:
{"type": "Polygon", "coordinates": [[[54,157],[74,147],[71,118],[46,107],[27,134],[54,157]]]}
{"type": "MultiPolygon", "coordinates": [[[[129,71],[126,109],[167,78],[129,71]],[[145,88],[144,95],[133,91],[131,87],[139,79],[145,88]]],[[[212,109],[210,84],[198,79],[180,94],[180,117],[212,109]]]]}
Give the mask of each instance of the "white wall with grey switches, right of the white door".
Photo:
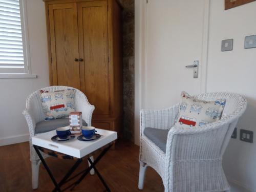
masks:
{"type": "MultiPolygon", "coordinates": [[[[244,37],[256,34],[256,2],[225,11],[224,1],[211,0],[209,24],[207,91],[244,95],[248,106],[238,128],[256,134],[256,48],[244,49],[244,37]],[[229,38],[233,51],[221,52],[221,40],[229,38]]],[[[255,136],[254,143],[231,139],[223,164],[228,179],[256,191],[255,136]]]]}

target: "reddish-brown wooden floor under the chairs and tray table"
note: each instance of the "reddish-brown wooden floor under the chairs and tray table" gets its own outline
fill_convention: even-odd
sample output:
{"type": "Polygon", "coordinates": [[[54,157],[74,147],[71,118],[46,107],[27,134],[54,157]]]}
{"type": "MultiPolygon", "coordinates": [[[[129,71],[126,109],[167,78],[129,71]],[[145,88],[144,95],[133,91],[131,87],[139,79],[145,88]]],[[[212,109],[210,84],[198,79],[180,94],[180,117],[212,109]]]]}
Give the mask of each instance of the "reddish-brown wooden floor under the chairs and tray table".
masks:
{"type": "MultiPolygon", "coordinates": [[[[119,141],[115,150],[110,150],[97,164],[97,168],[112,191],[138,190],[139,147],[119,141]]],[[[55,178],[59,181],[73,165],[73,160],[60,160],[54,157],[46,159],[55,178]]],[[[86,168],[84,161],[81,168],[86,168]]],[[[45,168],[40,165],[39,186],[34,191],[52,191],[54,185],[45,168]]],[[[19,143],[0,147],[0,191],[33,191],[31,188],[31,164],[29,160],[29,143],[19,143]]],[[[97,175],[88,175],[73,191],[104,191],[97,175]]],[[[148,168],[143,192],[164,191],[160,176],[148,168]]]]}

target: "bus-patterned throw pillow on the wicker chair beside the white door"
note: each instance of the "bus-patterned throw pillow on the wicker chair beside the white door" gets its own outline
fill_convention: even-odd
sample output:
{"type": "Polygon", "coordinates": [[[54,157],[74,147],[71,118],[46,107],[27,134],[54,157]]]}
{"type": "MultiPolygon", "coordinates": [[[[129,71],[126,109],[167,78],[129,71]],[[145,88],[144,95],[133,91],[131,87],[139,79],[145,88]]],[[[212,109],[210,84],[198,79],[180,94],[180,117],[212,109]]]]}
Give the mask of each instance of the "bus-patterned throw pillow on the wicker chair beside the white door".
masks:
{"type": "Polygon", "coordinates": [[[182,128],[198,127],[215,122],[221,118],[225,104],[226,99],[203,101],[191,98],[186,92],[182,92],[175,126],[182,128]]]}

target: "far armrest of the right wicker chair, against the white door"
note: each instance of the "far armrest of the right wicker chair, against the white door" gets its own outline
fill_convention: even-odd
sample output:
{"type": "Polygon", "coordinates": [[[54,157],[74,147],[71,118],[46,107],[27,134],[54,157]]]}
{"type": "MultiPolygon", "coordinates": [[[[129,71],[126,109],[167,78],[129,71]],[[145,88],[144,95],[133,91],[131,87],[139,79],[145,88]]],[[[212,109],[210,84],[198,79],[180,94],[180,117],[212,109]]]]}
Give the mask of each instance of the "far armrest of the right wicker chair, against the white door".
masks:
{"type": "Polygon", "coordinates": [[[170,127],[174,125],[174,121],[178,113],[178,106],[179,104],[176,104],[170,108],[163,110],[141,110],[141,133],[143,134],[145,127],[152,127],[163,130],[170,129],[170,127]]]}

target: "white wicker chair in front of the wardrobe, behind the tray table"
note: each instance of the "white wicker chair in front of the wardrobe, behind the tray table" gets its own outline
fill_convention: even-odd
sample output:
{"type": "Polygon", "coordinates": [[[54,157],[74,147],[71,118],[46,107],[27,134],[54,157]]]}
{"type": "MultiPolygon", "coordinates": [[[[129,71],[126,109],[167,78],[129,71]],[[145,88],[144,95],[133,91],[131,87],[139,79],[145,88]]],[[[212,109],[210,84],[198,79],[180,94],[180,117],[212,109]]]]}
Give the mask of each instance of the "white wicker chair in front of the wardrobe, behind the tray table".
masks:
{"type": "MultiPolygon", "coordinates": [[[[52,86],[52,87],[42,88],[35,91],[27,98],[26,110],[23,111],[23,114],[25,115],[25,118],[29,126],[30,160],[31,160],[31,168],[32,168],[32,188],[33,189],[36,189],[38,187],[38,172],[39,172],[39,165],[41,161],[39,160],[39,157],[36,154],[31,144],[31,137],[36,135],[35,134],[36,123],[43,121],[46,118],[46,115],[42,110],[40,90],[54,92],[58,90],[68,89],[68,88],[74,89],[74,88],[65,87],[65,86],[52,86]]],[[[82,118],[87,122],[88,126],[91,126],[94,105],[91,105],[88,102],[86,95],[84,95],[81,91],[77,89],[76,89],[74,100],[75,100],[76,111],[81,111],[82,118]]],[[[42,154],[42,155],[44,158],[48,157],[46,154],[42,154]]],[[[93,157],[91,157],[91,159],[93,160],[93,157]]],[[[92,170],[91,174],[92,175],[94,174],[94,170],[92,170]]]]}

